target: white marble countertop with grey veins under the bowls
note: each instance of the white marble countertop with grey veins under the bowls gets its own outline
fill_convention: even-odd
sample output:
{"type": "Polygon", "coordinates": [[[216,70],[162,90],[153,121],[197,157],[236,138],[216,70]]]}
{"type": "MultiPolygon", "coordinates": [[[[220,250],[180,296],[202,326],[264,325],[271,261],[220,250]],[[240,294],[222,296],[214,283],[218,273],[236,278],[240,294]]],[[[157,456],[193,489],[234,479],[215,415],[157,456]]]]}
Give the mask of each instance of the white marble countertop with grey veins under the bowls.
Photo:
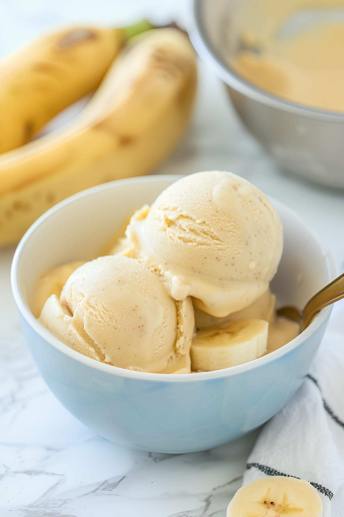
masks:
{"type": "MultiPolygon", "coordinates": [[[[72,22],[78,16],[102,21],[108,19],[106,9],[118,23],[142,12],[176,17],[183,2],[171,0],[163,9],[160,4],[132,0],[114,16],[116,3],[102,0],[96,16],[89,6],[80,18],[80,2],[54,2],[48,10],[43,0],[30,2],[30,10],[23,0],[0,3],[0,55],[54,22],[72,22]]],[[[277,172],[242,128],[223,85],[204,65],[199,68],[190,132],[156,172],[224,169],[248,178],[318,232],[339,272],[344,192],[277,172]]],[[[29,355],[10,291],[13,251],[0,250],[0,517],[224,517],[256,434],[210,451],[175,456],[126,450],[94,436],[48,391],[29,355]]]]}

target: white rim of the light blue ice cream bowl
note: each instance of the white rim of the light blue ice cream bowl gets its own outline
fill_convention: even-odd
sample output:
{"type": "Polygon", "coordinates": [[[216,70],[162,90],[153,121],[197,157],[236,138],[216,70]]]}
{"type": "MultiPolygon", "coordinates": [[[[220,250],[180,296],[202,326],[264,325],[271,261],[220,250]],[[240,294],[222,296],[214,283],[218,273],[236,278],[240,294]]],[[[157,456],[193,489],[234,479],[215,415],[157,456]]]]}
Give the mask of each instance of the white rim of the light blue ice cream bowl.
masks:
{"type": "MultiPolygon", "coordinates": [[[[212,372],[200,372],[196,374],[185,374],[185,373],[179,373],[179,374],[164,374],[164,373],[149,373],[149,372],[137,372],[133,370],[126,370],[124,368],[119,368],[116,366],[111,366],[110,364],[105,364],[99,361],[96,361],[95,359],[91,359],[89,357],[84,356],[83,354],[80,354],[79,352],[74,351],[72,348],[70,348],[68,345],[62,343],[59,339],[57,339],[53,334],[51,334],[48,330],[46,330],[40,323],[36,320],[35,316],[31,313],[28,306],[26,305],[26,302],[24,300],[21,286],[19,285],[18,280],[18,273],[19,273],[19,266],[21,262],[21,256],[22,252],[29,241],[31,235],[36,231],[36,229],[48,218],[50,218],[55,212],[62,209],[64,206],[69,205],[71,203],[74,203],[75,201],[87,197],[90,195],[93,195],[94,193],[113,189],[117,187],[121,187],[123,185],[130,185],[130,184],[137,184],[137,183],[155,183],[156,181],[160,182],[167,182],[173,183],[171,180],[177,180],[181,178],[182,175],[174,175],[174,174],[166,174],[166,175],[152,175],[152,176],[138,176],[133,178],[127,178],[127,179],[120,179],[115,181],[110,181],[109,183],[105,183],[102,185],[97,185],[95,187],[91,187],[89,189],[83,190],[77,194],[74,194],[67,199],[61,201],[60,203],[57,203],[52,208],[48,209],[42,216],[40,216],[26,231],[24,236],[19,242],[19,245],[17,249],[15,250],[12,265],[11,265],[11,287],[12,287],[12,293],[15,300],[15,303],[17,304],[18,310],[20,314],[23,316],[26,323],[37,333],[41,338],[43,338],[47,343],[57,348],[60,352],[62,352],[65,355],[68,355],[72,359],[75,359],[86,366],[89,366],[95,370],[103,371],[104,373],[111,374],[111,375],[117,375],[120,377],[129,377],[129,378],[135,378],[137,380],[146,380],[146,381],[162,381],[162,382],[197,382],[201,380],[211,380],[221,377],[229,377],[232,375],[240,374],[243,372],[247,372],[249,370],[253,370],[255,368],[259,368],[260,366],[263,366],[264,364],[267,364],[285,354],[290,352],[293,348],[296,348],[301,343],[303,343],[309,336],[311,336],[319,327],[320,325],[326,320],[326,318],[330,315],[332,307],[326,307],[322,309],[322,311],[314,318],[312,323],[299,334],[296,338],[294,338],[292,341],[287,343],[286,345],[282,346],[281,348],[278,348],[274,352],[271,352],[270,354],[259,357],[258,359],[254,359],[253,361],[239,364],[238,366],[233,366],[230,368],[224,368],[222,370],[215,370],[212,372]]],[[[276,201],[277,204],[282,205],[286,210],[292,212],[293,216],[300,220],[302,224],[304,222],[299,217],[296,212],[291,210],[289,207],[287,207],[284,203],[276,201]]],[[[331,257],[331,254],[327,249],[324,247],[321,239],[312,232],[311,230],[308,230],[309,233],[314,237],[314,239],[317,241],[320,250],[322,251],[322,255],[325,260],[325,264],[327,266],[327,274],[329,276],[329,281],[334,278],[335,275],[335,268],[333,264],[333,260],[331,257]]]]}

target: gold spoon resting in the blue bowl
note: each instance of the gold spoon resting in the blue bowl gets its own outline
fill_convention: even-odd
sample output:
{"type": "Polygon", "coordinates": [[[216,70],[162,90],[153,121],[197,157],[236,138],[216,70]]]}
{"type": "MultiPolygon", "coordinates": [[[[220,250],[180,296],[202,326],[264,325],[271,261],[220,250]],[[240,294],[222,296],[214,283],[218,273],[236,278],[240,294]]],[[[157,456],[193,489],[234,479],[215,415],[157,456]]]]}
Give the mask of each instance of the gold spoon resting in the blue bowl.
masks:
{"type": "Polygon", "coordinates": [[[344,298],[344,273],[325,285],[318,293],[307,301],[303,310],[297,307],[281,307],[277,309],[277,315],[284,316],[300,324],[301,332],[308,327],[314,316],[324,307],[332,305],[344,298]]]}

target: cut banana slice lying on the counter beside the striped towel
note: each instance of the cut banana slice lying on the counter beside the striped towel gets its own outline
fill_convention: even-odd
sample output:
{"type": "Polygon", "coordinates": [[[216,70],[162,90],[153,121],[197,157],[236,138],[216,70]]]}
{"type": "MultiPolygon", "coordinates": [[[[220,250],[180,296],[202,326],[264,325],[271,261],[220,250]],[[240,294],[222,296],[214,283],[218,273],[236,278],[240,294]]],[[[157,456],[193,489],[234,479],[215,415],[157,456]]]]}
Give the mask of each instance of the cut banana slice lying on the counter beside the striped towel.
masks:
{"type": "Polygon", "coordinates": [[[227,508],[227,517],[321,517],[317,490],[303,479],[269,476],[242,486],[227,508]]]}

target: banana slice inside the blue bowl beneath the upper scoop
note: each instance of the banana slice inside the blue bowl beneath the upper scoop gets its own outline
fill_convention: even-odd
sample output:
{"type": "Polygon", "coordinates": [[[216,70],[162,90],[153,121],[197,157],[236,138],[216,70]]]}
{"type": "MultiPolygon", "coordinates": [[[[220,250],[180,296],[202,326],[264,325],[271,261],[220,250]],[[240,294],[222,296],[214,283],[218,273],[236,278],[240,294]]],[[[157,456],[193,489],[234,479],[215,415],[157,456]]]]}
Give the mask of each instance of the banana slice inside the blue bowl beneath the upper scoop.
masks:
{"type": "Polygon", "coordinates": [[[253,361],[267,349],[269,323],[239,320],[201,330],[192,340],[192,371],[210,372],[253,361]]]}

